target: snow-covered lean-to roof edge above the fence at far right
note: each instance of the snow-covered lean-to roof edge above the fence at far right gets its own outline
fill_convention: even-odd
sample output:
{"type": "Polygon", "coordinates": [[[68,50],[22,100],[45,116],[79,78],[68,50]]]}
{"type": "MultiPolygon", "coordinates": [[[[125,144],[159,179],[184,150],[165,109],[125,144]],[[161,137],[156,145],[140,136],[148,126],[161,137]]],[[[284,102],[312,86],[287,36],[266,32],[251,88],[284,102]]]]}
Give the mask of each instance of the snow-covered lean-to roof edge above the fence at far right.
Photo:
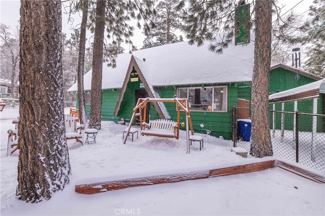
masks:
{"type": "Polygon", "coordinates": [[[318,80],[307,85],[297,88],[271,94],[269,96],[270,103],[287,102],[294,100],[303,100],[319,97],[319,94],[325,94],[325,79],[318,80]]]}

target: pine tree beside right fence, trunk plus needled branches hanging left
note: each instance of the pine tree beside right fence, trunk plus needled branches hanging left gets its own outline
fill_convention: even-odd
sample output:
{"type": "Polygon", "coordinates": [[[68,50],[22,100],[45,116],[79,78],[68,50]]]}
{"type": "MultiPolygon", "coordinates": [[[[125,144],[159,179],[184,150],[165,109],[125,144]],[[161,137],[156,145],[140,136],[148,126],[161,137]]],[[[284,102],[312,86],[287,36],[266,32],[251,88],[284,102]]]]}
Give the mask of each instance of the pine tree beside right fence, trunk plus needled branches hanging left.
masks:
{"type": "MultiPolygon", "coordinates": [[[[245,1],[240,1],[240,5],[245,1]]],[[[269,70],[271,60],[273,1],[254,1],[255,15],[255,48],[252,81],[252,135],[250,154],[255,157],[271,156],[273,154],[269,125],[269,70]]],[[[185,7],[181,1],[178,9],[185,7]]],[[[250,22],[240,26],[235,20],[237,1],[189,1],[189,6],[183,9],[186,38],[190,44],[201,46],[205,41],[212,42],[210,51],[222,53],[233,41],[241,37],[249,40],[250,22]],[[246,34],[239,30],[243,27],[246,34]]]]}

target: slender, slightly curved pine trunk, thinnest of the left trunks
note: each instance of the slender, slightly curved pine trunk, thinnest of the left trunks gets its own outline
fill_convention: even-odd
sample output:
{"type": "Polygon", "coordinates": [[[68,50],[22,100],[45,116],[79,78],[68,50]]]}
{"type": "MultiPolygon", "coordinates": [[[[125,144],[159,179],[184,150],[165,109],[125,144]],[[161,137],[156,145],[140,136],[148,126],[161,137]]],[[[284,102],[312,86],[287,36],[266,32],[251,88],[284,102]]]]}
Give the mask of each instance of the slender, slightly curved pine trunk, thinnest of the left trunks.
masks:
{"type": "Polygon", "coordinates": [[[82,1],[82,20],[80,28],[80,41],[79,41],[79,55],[78,55],[78,107],[79,107],[79,120],[80,124],[83,124],[85,128],[88,128],[86,104],[85,104],[85,92],[83,84],[83,69],[85,61],[85,44],[86,44],[86,30],[87,30],[87,18],[88,18],[88,0],[82,1]]]}

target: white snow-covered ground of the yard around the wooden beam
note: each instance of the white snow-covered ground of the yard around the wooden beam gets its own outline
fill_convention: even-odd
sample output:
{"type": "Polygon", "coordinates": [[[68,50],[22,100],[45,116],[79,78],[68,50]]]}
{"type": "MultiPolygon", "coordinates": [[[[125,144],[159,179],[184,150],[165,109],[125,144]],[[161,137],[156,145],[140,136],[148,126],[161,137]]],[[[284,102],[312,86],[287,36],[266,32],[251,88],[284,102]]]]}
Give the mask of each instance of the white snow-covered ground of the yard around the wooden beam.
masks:
{"type": "MultiPolygon", "coordinates": [[[[14,110],[10,109],[11,112],[14,110]]],[[[66,109],[66,112],[69,111],[66,109]]],[[[76,193],[75,186],[84,183],[159,174],[169,176],[280,159],[258,159],[249,153],[247,158],[243,158],[231,152],[231,140],[197,133],[195,135],[204,139],[203,149],[200,150],[199,142],[192,142],[190,154],[186,154],[185,131],[180,131],[178,140],[139,133],[138,138],[135,136],[132,141],[132,137],[128,137],[123,145],[122,135],[126,127],[103,121],[96,143],[82,146],[79,142],[68,140],[72,169],[70,183],[48,201],[25,203],[15,196],[18,152],[6,157],[7,130],[14,125],[12,120],[1,120],[0,214],[325,215],[325,184],[279,167],[98,194],[76,193]]],[[[325,177],[320,170],[281,160],[325,177]]]]}

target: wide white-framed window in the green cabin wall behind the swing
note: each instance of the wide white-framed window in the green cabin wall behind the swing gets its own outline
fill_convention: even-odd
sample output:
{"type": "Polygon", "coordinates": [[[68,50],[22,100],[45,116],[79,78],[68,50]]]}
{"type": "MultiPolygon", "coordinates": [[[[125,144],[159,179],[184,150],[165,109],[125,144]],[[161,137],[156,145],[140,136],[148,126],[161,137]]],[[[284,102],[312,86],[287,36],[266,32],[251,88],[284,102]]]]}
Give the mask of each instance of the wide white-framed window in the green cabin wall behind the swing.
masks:
{"type": "Polygon", "coordinates": [[[188,98],[190,111],[227,112],[227,86],[178,88],[177,97],[188,98]]]}

